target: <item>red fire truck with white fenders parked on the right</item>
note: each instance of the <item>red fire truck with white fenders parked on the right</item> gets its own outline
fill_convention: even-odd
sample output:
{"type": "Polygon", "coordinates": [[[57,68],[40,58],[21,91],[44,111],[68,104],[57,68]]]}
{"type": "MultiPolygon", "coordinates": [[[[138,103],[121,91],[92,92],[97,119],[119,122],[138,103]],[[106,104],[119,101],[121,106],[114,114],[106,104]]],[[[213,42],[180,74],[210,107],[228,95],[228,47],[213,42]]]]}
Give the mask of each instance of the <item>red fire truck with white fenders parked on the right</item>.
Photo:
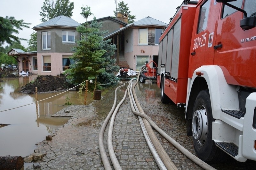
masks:
{"type": "Polygon", "coordinates": [[[161,101],[186,107],[200,159],[256,160],[256,1],[185,0],[170,20],[159,43],[161,101]]]}

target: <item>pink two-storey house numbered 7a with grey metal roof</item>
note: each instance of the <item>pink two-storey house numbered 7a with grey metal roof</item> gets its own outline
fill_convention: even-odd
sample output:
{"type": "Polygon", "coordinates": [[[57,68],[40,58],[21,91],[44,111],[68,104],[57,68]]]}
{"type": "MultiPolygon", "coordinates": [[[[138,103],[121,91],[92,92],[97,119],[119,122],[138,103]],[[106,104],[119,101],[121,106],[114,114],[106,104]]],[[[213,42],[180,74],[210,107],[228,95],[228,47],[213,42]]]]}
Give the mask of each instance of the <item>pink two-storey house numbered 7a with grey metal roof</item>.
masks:
{"type": "Polygon", "coordinates": [[[116,61],[120,67],[139,71],[147,61],[158,63],[159,38],[166,26],[164,22],[146,17],[109,33],[104,39],[111,38],[116,44],[116,61]]]}

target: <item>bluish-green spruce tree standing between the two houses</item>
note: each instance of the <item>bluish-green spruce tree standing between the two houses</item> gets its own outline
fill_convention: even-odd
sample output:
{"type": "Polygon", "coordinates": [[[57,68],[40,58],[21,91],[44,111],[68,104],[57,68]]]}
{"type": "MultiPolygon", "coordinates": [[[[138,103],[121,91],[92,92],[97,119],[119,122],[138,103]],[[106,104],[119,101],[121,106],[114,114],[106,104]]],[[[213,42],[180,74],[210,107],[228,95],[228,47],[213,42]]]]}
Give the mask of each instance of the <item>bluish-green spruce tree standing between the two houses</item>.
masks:
{"type": "MultiPolygon", "coordinates": [[[[88,18],[88,14],[92,14],[90,7],[83,8],[81,14],[84,18],[88,18]]],[[[77,46],[73,48],[75,53],[72,59],[74,64],[70,65],[70,69],[66,70],[67,80],[74,84],[80,84],[85,80],[95,79],[97,82],[105,84],[115,79],[115,72],[119,67],[115,65],[115,59],[111,59],[114,55],[116,46],[110,43],[110,40],[103,40],[105,31],[100,31],[101,23],[98,23],[94,17],[91,28],[84,25],[78,26],[76,31],[80,33],[81,40],[77,41],[77,46]]],[[[108,85],[115,85],[113,81],[108,85]]],[[[100,86],[98,86],[100,88],[100,86]]]]}

